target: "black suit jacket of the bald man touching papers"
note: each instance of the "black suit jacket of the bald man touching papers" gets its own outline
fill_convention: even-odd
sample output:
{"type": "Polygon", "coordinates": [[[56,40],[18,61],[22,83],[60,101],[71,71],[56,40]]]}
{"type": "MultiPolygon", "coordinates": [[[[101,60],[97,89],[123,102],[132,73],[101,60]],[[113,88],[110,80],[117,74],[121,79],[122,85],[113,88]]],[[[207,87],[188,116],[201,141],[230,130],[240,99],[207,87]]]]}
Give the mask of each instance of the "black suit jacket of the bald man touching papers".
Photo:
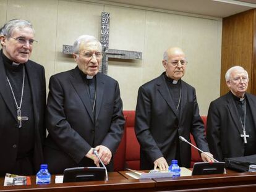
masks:
{"type": "Polygon", "coordinates": [[[179,144],[181,165],[190,167],[190,146],[177,141],[177,136],[180,135],[190,141],[190,132],[194,135],[198,148],[209,151],[195,89],[184,81],[181,81],[181,87],[179,117],[166,85],[164,73],[139,88],[135,131],[141,146],[141,169],[152,169],[153,162],[160,157],[164,157],[168,164],[171,164],[171,160],[176,157],[177,144],[179,144]]]}

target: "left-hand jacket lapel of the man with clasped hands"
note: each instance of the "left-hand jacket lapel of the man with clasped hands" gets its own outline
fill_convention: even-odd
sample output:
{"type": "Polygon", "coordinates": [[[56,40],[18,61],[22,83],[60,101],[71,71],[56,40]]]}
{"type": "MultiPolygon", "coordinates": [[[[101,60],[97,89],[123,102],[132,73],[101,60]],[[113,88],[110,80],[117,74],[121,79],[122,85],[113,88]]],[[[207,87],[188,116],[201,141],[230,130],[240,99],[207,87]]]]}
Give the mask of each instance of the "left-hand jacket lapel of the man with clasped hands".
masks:
{"type": "Polygon", "coordinates": [[[81,77],[80,70],[78,67],[75,67],[75,69],[71,70],[70,81],[71,81],[72,85],[74,86],[75,91],[79,95],[79,98],[83,102],[83,105],[85,106],[85,109],[87,110],[87,112],[90,116],[90,119],[94,123],[90,97],[89,97],[88,91],[86,90],[85,82],[84,82],[83,78],[81,77]]]}

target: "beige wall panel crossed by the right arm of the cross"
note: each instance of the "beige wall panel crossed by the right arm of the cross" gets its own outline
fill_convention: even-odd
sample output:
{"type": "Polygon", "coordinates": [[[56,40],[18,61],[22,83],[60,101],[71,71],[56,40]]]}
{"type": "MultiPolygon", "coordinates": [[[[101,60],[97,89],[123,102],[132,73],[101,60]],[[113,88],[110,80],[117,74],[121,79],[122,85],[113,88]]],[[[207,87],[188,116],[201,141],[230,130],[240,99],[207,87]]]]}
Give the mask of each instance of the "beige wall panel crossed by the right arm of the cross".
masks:
{"type": "MultiPolygon", "coordinates": [[[[105,6],[110,12],[109,48],[141,51],[143,56],[145,35],[145,10],[105,6]]],[[[142,62],[109,61],[108,75],[119,82],[124,110],[134,110],[137,91],[142,85],[142,62]]]]}

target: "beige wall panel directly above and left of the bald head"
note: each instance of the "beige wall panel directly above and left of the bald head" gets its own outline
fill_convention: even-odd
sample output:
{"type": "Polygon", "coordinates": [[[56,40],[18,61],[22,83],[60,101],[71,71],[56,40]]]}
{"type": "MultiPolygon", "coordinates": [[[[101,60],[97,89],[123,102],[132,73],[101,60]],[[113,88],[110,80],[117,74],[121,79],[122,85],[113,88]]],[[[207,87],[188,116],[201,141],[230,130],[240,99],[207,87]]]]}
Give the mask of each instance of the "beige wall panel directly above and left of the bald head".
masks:
{"type": "Polygon", "coordinates": [[[143,82],[164,72],[163,53],[169,46],[181,46],[183,16],[147,11],[143,82]]]}

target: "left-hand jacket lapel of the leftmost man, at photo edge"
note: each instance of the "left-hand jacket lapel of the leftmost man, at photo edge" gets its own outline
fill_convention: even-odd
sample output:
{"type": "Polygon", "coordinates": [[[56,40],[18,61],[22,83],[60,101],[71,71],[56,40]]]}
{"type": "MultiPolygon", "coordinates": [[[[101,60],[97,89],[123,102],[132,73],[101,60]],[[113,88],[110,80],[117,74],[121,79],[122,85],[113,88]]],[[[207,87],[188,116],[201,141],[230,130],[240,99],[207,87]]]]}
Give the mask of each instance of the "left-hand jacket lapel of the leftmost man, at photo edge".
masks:
{"type": "MultiPolygon", "coordinates": [[[[1,53],[0,53],[1,54],[1,53]]],[[[4,99],[4,102],[6,102],[6,106],[11,112],[12,116],[15,120],[17,120],[17,114],[15,111],[17,111],[17,107],[14,105],[14,101],[12,99],[12,93],[10,90],[10,87],[8,85],[7,79],[6,79],[6,69],[4,68],[4,62],[2,61],[2,56],[0,55],[0,94],[2,95],[2,98],[4,99]],[[14,110],[15,109],[15,110],[14,110]]]]}

